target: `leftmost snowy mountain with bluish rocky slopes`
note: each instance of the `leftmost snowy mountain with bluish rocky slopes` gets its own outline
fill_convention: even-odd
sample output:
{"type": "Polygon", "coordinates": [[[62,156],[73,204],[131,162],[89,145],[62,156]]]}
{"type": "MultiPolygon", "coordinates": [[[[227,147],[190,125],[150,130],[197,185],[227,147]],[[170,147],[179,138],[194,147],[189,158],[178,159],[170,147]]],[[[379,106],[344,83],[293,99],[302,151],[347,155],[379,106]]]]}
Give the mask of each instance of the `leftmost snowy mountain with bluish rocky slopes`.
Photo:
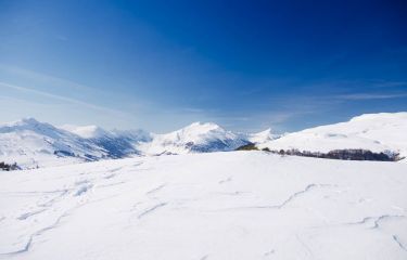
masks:
{"type": "Polygon", "coordinates": [[[34,118],[0,125],[0,161],[23,168],[103,158],[106,151],[71,132],[34,118]]]}

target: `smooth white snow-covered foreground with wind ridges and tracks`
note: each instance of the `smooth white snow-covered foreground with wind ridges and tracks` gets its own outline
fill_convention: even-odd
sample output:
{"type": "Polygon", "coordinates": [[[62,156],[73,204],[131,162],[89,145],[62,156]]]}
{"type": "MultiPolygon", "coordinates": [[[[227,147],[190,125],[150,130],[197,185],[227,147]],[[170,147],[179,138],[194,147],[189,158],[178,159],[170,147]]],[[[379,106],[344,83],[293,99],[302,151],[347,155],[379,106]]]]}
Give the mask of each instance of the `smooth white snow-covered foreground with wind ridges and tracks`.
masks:
{"type": "Polygon", "coordinates": [[[407,165],[229,152],[0,172],[1,259],[407,259],[407,165]]]}

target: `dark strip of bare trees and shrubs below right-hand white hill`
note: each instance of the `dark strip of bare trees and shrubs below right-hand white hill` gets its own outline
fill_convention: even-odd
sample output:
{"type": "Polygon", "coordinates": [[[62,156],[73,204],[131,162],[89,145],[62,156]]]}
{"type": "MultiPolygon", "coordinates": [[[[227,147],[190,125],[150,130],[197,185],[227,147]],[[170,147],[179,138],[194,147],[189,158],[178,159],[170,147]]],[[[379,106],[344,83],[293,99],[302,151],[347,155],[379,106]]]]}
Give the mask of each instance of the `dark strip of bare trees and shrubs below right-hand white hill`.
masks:
{"type": "MultiPolygon", "coordinates": [[[[257,150],[255,144],[246,144],[237,148],[237,151],[251,151],[257,150]]],[[[304,157],[315,157],[315,158],[326,158],[326,159],[342,159],[342,160],[378,160],[378,161],[397,161],[404,159],[399,157],[398,153],[393,152],[381,152],[373,153],[369,150],[333,150],[328,153],[321,152],[309,152],[309,151],[300,151],[300,150],[269,150],[263,148],[263,151],[279,154],[279,155],[295,155],[304,157]]]]}

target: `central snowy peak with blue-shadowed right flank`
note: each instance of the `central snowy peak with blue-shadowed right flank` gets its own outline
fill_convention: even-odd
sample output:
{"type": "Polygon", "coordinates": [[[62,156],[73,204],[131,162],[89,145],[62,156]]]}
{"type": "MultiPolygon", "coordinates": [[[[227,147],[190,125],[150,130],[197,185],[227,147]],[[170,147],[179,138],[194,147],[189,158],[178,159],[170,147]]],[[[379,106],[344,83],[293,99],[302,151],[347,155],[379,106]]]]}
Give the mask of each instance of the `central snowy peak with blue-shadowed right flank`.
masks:
{"type": "Polygon", "coordinates": [[[138,150],[147,155],[207,153],[233,151],[246,143],[243,135],[216,123],[193,122],[170,133],[154,134],[151,142],[140,144],[138,150]]]}

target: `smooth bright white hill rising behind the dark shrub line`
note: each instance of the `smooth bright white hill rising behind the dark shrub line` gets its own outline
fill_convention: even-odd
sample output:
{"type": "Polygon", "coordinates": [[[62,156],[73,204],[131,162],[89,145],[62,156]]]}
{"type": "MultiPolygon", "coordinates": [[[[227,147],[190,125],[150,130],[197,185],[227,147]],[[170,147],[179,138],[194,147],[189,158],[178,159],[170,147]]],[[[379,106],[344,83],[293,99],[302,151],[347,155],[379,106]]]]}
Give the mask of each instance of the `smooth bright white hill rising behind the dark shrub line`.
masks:
{"type": "Polygon", "coordinates": [[[329,152],[365,148],[407,156],[407,113],[367,114],[349,121],[306,129],[258,145],[260,148],[329,152]]]}

